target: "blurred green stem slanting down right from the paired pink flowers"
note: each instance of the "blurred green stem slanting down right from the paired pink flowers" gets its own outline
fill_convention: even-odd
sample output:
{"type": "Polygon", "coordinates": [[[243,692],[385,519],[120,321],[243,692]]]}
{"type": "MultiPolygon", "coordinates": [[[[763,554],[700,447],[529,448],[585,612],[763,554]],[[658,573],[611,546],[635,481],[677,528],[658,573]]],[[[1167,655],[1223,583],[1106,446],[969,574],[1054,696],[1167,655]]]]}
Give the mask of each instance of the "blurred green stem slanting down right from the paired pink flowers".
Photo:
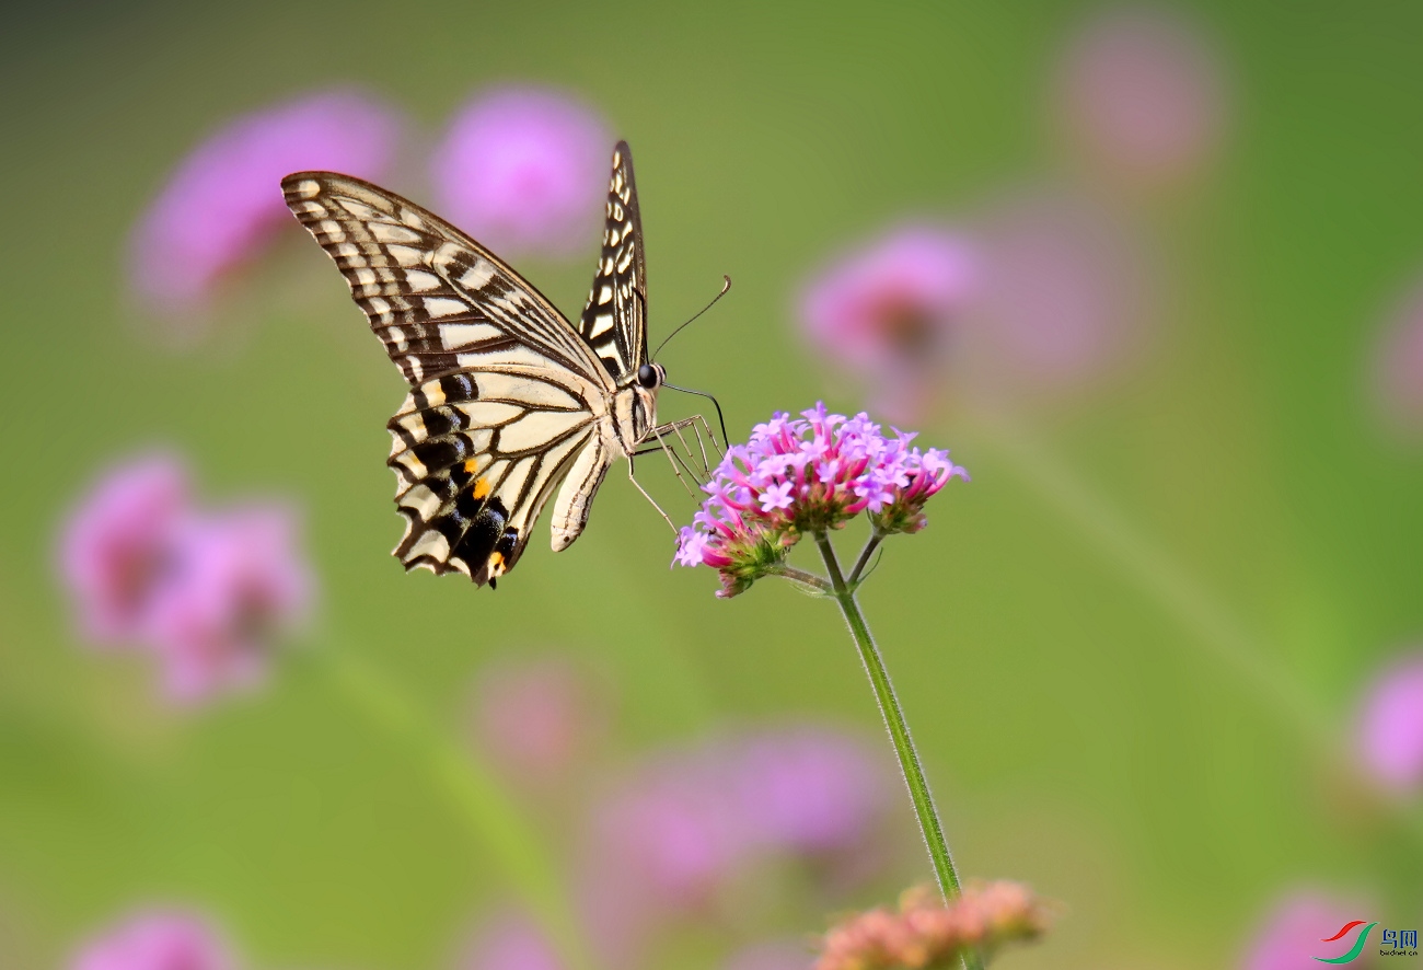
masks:
{"type": "Polygon", "coordinates": [[[366,718],[414,750],[445,791],[480,846],[502,868],[519,899],[575,970],[593,961],[554,859],[527,814],[472,751],[454,744],[370,661],[326,650],[326,670],[340,694],[366,718]]]}

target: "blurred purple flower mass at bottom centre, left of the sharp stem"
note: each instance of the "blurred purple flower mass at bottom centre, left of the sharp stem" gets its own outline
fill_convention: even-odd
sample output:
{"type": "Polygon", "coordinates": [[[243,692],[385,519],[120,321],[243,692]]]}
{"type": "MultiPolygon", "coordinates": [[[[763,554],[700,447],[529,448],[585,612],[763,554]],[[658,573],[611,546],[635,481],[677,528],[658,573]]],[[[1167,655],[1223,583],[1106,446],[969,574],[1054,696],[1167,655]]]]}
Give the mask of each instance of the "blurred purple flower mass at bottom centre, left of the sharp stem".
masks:
{"type": "Polygon", "coordinates": [[[589,821],[591,933],[609,963],[636,966],[659,926],[714,915],[751,868],[862,849],[884,816],[885,788],[858,738],[824,727],[663,751],[589,821]]]}

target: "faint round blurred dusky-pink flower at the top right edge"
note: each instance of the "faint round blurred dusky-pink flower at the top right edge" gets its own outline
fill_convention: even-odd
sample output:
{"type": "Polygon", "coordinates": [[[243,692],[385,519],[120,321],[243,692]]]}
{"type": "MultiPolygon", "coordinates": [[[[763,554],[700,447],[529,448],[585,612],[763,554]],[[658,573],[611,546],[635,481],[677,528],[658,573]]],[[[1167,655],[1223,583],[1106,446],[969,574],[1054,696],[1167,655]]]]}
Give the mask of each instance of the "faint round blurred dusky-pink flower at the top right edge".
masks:
{"type": "Polygon", "coordinates": [[[1197,174],[1225,122],[1215,51],[1192,24],[1155,7],[1089,23],[1067,47],[1056,94],[1076,146],[1109,178],[1146,186],[1197,174]]]}

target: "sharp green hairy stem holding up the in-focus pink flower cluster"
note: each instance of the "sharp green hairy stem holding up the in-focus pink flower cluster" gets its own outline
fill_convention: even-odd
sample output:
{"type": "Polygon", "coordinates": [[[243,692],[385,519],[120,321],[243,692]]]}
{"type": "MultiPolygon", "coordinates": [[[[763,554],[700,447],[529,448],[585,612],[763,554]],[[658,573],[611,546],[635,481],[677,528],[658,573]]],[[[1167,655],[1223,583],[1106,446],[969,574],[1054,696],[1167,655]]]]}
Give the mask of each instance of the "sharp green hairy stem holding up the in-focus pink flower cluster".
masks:
{"type": "MultiPolygon", "coordinates": [[[[871,542],[875,542],[871,538],[871,542]]],[[[879,713],[889,728],[889,738],[894,741],[895,754],[899,755],[899,768],[904,771],[905,784],[909,787],[909,798],[914,799],[915,815],[919,816],[919,829],[924,832],[924,843],[929,849],[929,859],[933,862],[933,875],[939,880],[939,890],[945,900],[952,900],[961,895],[959,875],[953,869],[953,856],[949,853],[949,843],[943,838],[943,825],[939,822],[939,812],[933,808],[933,795],[929,792],[929,782],[924,777],[919,765],[919,754],[914,748],[909,737],[909,725],[905,724],[904,710],[899,698],[895,697],[894,684],[889,681],[889,671],[885,670],[884,659],[875,646],[875,639],[869,633],[859,603],[855,602],[854,587],[845,582],[840,570],[840,560],[835,558],[835,548],[830,543],[830,536],[824,532],[815,533],[815,545],[825,560],[825,570],[830,573],[830,585],[834,590],[835,602],[840,603],[845,623],[850,626],[850,636],[859,647],[859,659],[869,674],[869,683],[875,688],[875,698],[879,701],[879,713]]],[[[878,545],[878,543],[877,543],[878,545]]],[[[861,560],[867,556],[861,555],[861,560]]],[[[982,970],[983,961],[976,952],[963,954],[963,966],[968,970],[982,970]]]]}

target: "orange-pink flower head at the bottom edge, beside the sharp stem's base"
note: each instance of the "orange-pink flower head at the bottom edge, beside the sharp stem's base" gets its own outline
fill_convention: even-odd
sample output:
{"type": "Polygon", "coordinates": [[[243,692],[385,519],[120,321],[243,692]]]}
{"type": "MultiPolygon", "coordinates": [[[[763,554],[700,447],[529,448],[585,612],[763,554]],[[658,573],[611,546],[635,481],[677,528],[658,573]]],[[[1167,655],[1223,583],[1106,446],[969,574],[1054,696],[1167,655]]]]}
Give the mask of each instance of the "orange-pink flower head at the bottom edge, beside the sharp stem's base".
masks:
{"type": "Polygon", "coordinates": [[[929,886],[899,897],[899,912],[872,909],[825,934],[815,970],[921,970],[956,966],[969,947],[995,950],[1030,940],[1050,922],[1049,906],[1016,882],[969,886],[945,905],[929,886]]]}

